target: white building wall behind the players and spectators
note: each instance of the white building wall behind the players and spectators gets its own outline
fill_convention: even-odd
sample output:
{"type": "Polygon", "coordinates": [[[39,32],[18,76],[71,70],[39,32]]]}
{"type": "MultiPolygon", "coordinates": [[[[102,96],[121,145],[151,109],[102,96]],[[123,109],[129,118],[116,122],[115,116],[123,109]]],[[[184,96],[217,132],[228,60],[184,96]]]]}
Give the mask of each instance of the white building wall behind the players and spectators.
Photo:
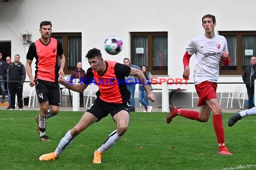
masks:
{"type": "MultiPolygon", "coordinates": [[[[104,59],[122,63],[125,57],[130,58],[129,32],[168,31],[168,76],[158,77],[181,78],[185,47],[191,38],[204,33],[203,15],[216,16],[216,33],[256,30],[255,6],[255,0],[10,0],[0,3],[0,41],[11,41],[12,57],[20,54],[25,64],[28,45],[23,44],[20,33],[28,30],[35,41],[40,38],[40,22],[49,20],[53,32],[82,33],[82,63],[87,70],[89,64],[84,56],[93,47],[102,49],[104,59]],[[123,40],[124,48],[119,55],[108,55],[103,50],[105,39],[112,35],[123,40]]],[[[190,82],[193,82],[193,64],[190,59],[190,82]]],[[[242,78],[220,76],[219,82],[242,82],[242,78]]],[[[170,88],[194,90],[193,85],[170,88]]],[[[30,89],[26,83],[24,91],[30,89]]],[[[230,90],[230,86],[219,85],[218,90],[222,89],[230,90]]]]}

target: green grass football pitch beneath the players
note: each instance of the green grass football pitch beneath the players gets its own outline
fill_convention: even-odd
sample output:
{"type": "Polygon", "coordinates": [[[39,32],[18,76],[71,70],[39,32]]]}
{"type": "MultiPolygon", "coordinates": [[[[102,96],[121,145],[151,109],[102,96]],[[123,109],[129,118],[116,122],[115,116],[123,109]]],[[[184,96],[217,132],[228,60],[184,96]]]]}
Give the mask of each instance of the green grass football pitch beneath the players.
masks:
{"type": "Polygon", "coordinates": [[[0,110],[0,170],[237,170],[256,169],[256,116],[247,116],[233,127],[223,114],[225,144],[234,154],[217,154],[212,126],[176,117],[165,123],[167,113],[130,114],[130,126],[118,143],[93,164],[93,152],[115,130],[111,116],[81,133],[54,161],[39,161],[53,152],[59,141],[84,112],[61,111],[48,119],[51,142],[40,142],[35,116],[38,111],[0,110]]]}

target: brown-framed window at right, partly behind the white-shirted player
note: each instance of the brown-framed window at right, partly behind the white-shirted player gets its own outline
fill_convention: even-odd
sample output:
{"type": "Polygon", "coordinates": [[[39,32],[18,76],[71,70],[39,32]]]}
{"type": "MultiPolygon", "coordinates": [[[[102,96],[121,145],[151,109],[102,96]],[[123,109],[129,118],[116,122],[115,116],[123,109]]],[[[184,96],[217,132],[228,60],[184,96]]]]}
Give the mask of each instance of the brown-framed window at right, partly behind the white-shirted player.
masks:
{"type": "Polygon", "coordinates": [[[256,56],[256,31],[220,31],[227,39],[231,64],[221,64],[220,75],[242,75],[250,65],[252,56],[256,56]]]}

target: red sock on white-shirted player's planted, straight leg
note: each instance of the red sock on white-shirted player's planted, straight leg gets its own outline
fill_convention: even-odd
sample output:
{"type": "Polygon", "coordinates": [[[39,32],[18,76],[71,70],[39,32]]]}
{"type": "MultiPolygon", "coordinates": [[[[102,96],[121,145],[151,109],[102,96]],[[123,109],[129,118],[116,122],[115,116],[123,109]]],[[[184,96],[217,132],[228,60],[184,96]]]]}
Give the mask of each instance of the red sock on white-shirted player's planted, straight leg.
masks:
{"type": "Polygon", "coordinates": [[[225,147],[224,127],[222,124],[222,115],[213,115],[213,127],[217,136],[219,148],[225,147]]]}

